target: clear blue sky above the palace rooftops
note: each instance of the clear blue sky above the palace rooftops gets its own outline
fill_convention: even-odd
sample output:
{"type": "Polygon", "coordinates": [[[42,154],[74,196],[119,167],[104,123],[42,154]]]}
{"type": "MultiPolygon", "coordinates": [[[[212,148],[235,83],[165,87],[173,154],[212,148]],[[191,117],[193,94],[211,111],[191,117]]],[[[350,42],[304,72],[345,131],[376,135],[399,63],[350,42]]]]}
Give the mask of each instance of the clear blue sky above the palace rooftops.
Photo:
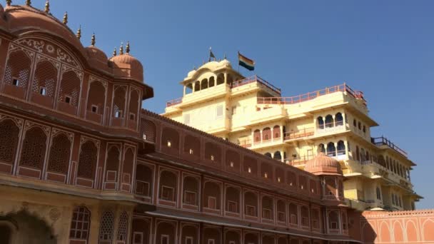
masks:
{"type": "Polygon", "coordinates": [[[433,9],[422,0],[51,1],[54,16],[68,11],[71,29],[81,24],[85,46],[92,32],[108,55],[131,41],[155,90],[144,107],[158,113],[182,95],[178,82],[208,59],[210,46],[234,66],[238,50],[254,59],[255,73],[283,96],[346,81],[365,93],[380,124],[373,136],[387,136],[418,164],[411,173],[425,197],[418,208],[434,208],[433,9]]]}

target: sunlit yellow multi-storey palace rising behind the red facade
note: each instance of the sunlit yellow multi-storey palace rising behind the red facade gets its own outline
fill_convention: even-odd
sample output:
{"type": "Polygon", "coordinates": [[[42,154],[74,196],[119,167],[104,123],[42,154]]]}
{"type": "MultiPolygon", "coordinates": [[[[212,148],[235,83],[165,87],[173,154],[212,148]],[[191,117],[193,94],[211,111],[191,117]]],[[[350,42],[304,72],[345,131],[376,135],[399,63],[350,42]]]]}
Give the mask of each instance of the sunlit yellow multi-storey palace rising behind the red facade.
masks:
{"type": "Polygon", "coordinates": [[[183,97],[166,103],[163,116],[239,146],[304,168],[318,152],[337,159],[345,176],[347,205],[358,210],[412,210],[407,153],[378,126],[361,91],[341,84],[283,97],[259,76],[244,77],[231,63],[208,61],[181,81],[183,97]]]}

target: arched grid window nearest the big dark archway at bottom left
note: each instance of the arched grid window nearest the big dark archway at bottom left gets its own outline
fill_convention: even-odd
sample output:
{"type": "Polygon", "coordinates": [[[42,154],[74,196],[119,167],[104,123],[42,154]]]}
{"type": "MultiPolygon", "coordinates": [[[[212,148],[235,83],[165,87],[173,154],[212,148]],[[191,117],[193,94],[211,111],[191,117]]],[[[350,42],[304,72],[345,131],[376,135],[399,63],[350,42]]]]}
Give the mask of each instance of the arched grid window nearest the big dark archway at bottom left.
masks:
{"type": "Polygon", "coordinates": [[[86,240],[91,226],[91,212],[85,206],[74,208],[71,220],[69,239],[86,240]]]}

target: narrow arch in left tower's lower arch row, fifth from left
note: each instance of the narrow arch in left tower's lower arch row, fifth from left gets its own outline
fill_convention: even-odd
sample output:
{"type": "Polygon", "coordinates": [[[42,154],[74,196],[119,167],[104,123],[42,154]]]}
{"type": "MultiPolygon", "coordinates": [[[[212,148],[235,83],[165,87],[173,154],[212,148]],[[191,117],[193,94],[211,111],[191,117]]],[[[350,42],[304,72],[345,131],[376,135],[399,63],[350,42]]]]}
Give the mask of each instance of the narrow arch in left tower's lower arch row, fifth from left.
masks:
{"type": "Polygon", "coordinates": [[[119,162],[121,161],[121,151],[117,146],[111,146],[107,152],[106,176],[104,178],[104,189],[116,190],[119,174],[119,162]]]}

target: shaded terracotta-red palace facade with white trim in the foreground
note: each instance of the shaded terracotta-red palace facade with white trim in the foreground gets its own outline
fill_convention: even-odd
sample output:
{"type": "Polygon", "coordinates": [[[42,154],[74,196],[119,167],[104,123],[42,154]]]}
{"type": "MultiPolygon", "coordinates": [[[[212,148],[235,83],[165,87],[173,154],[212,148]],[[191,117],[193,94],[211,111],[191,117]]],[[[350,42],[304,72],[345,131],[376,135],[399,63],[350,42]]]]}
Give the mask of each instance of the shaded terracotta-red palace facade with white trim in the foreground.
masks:
{"type": "MultiPolygon", "coordinates": [[[[336,158],[302,170],[144,110],[129,44],[108,58],[67,21],[48,1],[0,5],[0,243],[383,240],[381,219],[345,205],[336,158]]],[[[434,241],[432,211],[415,219],[434,241]]]]}

